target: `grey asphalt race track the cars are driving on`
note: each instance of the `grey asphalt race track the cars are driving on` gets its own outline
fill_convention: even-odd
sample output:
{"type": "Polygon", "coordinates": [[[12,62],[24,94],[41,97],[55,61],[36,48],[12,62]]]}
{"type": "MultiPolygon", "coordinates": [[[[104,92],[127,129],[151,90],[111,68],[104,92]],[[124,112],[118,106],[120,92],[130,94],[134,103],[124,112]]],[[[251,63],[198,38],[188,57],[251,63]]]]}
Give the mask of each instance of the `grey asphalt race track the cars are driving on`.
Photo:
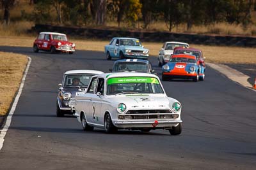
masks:
{"type": "MultiPolygon", "coordinates": [[[[103,48],[103,47],[102,47],[103,48]]],[[[58,83],[70,69],[108,72],[114,60],[102,52],[33,53],[0,46],[32,62],[0,151],[0,169],[255,169],[256,92],[210,67],[205,81],[163,81],[182,103],[183,129],[84,132],[76,118],[56,117],[58,83]]],[[[157,58],[150,57],[153,69],[157,58]]]]}

